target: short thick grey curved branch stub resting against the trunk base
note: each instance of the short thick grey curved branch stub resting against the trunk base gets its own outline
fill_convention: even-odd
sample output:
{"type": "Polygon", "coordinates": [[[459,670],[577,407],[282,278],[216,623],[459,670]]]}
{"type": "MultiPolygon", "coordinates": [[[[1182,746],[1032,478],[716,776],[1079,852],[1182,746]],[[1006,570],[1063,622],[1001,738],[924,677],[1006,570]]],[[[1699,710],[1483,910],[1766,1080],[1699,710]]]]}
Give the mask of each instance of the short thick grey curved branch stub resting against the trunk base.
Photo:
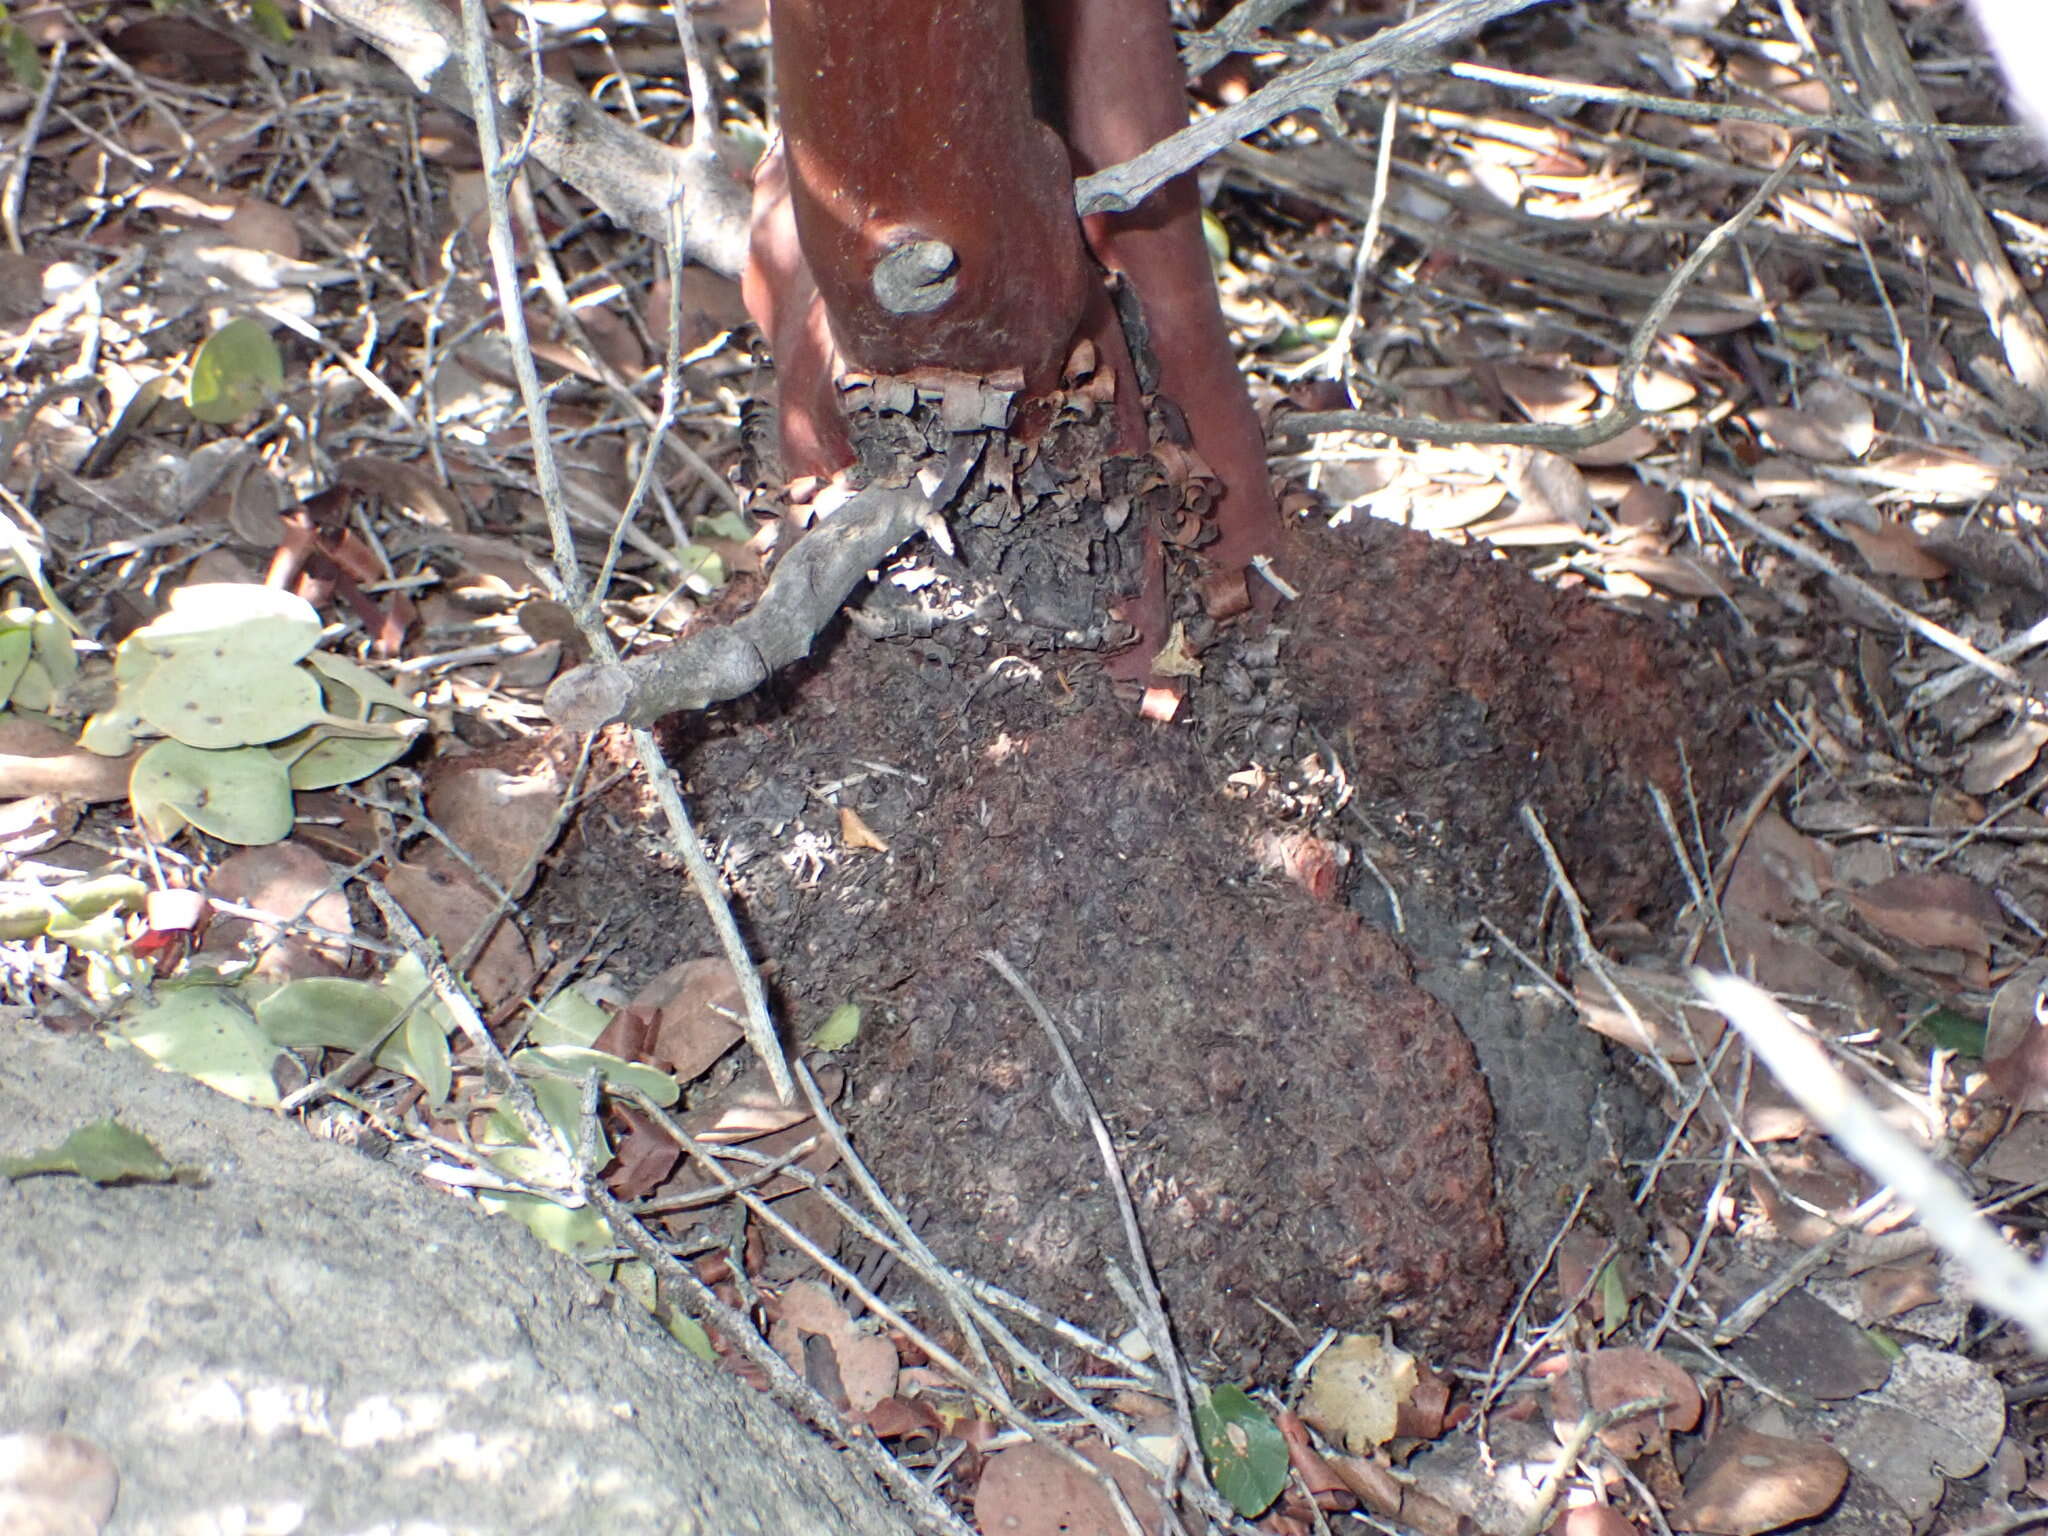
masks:
{"type": "Polygon", "coordinates": [[[739,618],[631,662],[565,672],[547,690],[549,719],[569,731],[616,721],[653,725],[680,709],[707,709],[760,688],[811,653],[840,604],[918,532],[930,508],[918,485],[860,492],[782,557],[739,618]]]}

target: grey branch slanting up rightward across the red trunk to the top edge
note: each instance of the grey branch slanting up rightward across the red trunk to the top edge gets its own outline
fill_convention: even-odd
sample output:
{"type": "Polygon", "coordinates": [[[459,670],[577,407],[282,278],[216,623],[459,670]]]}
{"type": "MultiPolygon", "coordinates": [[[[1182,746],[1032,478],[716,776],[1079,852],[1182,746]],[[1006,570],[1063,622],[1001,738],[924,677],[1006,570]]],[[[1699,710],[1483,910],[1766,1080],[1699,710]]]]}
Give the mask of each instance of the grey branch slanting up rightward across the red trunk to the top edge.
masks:
{"type": "Polygon", "coordinates": [[[1413,20],[1374,33],[1362,43],[1333,49],[1315,63],[1280,76],[1235,106],[1161,139],[1135,160],[1083,176],[1073,186],[1075,209],[1083,217],[1090,213],[1128,213],[1176,176],[1194,170],[1212,154],[1262,127],[1278,123],[1288,113],[1313,106],[1327,117],[1337,104],[1337,92],[1346,86],[1358,84],[1370,74],[1415,68],[1438,49],[1464,41],[1487,23],[1540,4],[1548,4],[1548,0],[1444,0],[1413,20]]]}

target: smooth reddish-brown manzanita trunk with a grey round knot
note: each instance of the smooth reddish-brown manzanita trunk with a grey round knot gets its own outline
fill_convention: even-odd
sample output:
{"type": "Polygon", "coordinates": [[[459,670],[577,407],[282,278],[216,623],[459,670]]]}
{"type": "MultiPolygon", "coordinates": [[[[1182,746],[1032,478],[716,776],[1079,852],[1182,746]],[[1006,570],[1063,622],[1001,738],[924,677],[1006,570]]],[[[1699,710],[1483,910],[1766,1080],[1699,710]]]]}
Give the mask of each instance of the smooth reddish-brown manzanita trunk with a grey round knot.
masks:
{"type": "MultiPolygon", "coordinates": [[[[784,471],[852,461],[840,369],[1010,377],[1028,397],[1059,385],[1083,338],[1118,373],[1118,451],[1141,453],[1108,266],[1135,287],[1159,389],[1221,483],[1204,557],[1241,578],[1272,553],[1264,434],[1194,178],[1085,231],[1073,213],[1075,174],[1186,121],[1165,0],[772,0],[772,25],[782,143],[756,178],[745,293],[776,354],[784,471]]],[[[1165,629],[1157,530],[1147,565],[1137,672],[1165,629]]]]}

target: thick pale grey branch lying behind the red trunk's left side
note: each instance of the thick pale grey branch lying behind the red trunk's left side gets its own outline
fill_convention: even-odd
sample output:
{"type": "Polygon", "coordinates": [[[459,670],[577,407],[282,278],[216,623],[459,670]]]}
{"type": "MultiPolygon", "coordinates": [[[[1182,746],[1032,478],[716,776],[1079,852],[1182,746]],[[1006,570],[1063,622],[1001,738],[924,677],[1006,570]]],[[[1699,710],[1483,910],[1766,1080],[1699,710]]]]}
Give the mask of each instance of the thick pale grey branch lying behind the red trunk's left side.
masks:
{"type": "MultiPolygon", "coordinates": [[[[469,119],[461,23],[436,0],[309,0],[311,8],[383,53],[424,94],[469,119]]],[[[692,141],[674,150],[600,113],[557,80],[535,82],[532,66],[492,47],[498,104],[532,113],[532,158],[590,197],[612,221],[668,240],[668,209],[682,199],[690,258],[739,276],[748,258],[748,190],[717,152],[692,141]]]]}

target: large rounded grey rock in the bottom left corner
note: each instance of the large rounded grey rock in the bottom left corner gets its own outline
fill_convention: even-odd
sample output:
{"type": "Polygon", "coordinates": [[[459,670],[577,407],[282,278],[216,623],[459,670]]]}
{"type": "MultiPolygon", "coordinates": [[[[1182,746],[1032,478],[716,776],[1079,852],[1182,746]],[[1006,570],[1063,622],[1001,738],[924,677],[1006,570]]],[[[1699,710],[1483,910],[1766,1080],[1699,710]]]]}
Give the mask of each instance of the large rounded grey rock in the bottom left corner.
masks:
{"type": "Polygon", "coordinates": [[[203,1182],[0,1184],[0,1432],[109,1452],[125,1536],[907,1536],[788,1415],[524,1229],[0,1016],[0,1151],[109,1114],[203,1182]]]}

